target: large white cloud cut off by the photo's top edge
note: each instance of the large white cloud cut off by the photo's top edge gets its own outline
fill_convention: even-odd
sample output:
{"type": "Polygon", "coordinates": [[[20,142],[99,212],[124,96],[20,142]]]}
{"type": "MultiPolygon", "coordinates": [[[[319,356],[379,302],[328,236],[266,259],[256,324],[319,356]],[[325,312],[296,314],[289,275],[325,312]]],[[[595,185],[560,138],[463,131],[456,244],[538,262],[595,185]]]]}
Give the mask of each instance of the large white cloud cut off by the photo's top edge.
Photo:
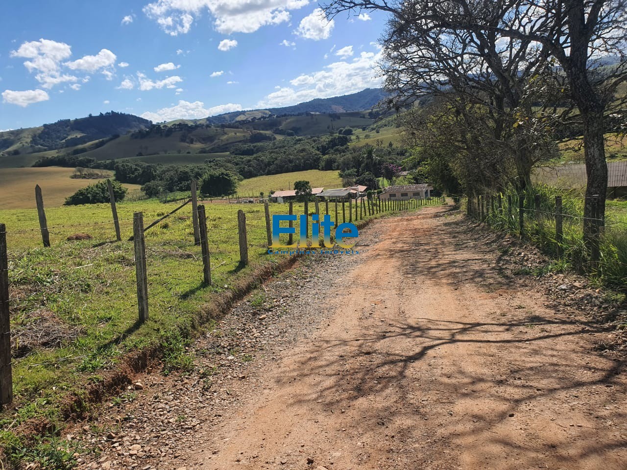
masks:
{"type": "Polygon", "coordinates": [[[219,33],[254,33],[261,26],[289,21],[290,10],[310,0],[157,0],[144,7],[148,18],[168,34],[189,32],[194,19],[209,11],[219,33]]]}

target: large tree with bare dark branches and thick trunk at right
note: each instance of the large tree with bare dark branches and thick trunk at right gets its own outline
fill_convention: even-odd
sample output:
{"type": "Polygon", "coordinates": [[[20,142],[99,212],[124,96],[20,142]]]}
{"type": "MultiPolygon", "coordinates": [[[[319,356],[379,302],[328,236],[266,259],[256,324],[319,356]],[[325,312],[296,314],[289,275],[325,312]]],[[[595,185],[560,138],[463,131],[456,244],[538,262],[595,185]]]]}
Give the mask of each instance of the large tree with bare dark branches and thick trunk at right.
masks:
{"type": "MultiPolygon", "coordinates": [[[[488,109],[505,119],[493,121],[495,141],[520,147],[523,169],[530,168],[525,153],[537,145],[519,129],[530,122],[527,132],[533,134],[537,123],[545,122],[534,119],[534,105],[543,103],[532,93],[542,91],[537,83],[562,81],[561,97],[575,103],[581,118],[588,178],[584,241],[594,256],[607,189],[605,120],[616,107],[619,84],[627,78],[625,2],[332,0],[325,11],[330,16],[362,9],[389,13],[384,49],[391,66],[383,66],[386,85],[401,97],[416,97],[426,87],[440,94],[470,90],[466,94],[488,98],[488,109]],[[604,65],[613,55],[620,57],[619,63],[604,65]],[[508,115],[515,118],[514,125],[508,115]]],[[[568,111],[566,106],[566,113],[563,107],[559,113],[572,118],[568,111]]]]}

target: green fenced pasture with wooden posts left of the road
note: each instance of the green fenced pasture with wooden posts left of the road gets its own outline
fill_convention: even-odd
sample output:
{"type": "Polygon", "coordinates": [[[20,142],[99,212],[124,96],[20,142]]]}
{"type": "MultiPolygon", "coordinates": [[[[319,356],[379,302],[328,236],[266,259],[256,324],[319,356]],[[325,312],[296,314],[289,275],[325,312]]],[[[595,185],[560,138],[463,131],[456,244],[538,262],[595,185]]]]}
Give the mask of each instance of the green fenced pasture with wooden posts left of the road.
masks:
{"type": "MultiPolygon", "coordinates": [[[[24,390],[41,390],[41,387],[49,390],[53,374],[71,376],[71,373],[107,367],[115,348],[135,331],[147,335],[142,340],[135,338],[139,344],[145,344],[142,341],[147,341],[149,335],[161,334],[154,332],[168,332],[184,325],[184,315],[198,309],[206,299],[204,290],[219,293],[231,283],[231,276],[251,261],[272,263],[269,259],[263,261],[271,244],[271,213],[303,214],[307,219],[314,213],[329,214],[335,224],[340,224],[444,202],[443,198],[390,201],[374,196],[347,201],[246,204],[241,209],[216,204],[209,209],[196,200],[193,189],[192,185],[191,199],[165,214],[159,210],[164,206],[153,203],[149,211],[132,212],[131,219],[127,215],[129,208],[139,209],[142,204],[124,202],[116,206],[112,196],[108,222],[63,226],[99,231],[104,239],[98,243],[91,237],[68,237],[76,242],[59,240],[55,224],[50,226],[51,219],[46,217],[39,186],[36,188],[38,229],[17,227],[12,231],[10,224],[0,223],[0,405],[11,403],[13,377],[22,377],[25,370],[41,369],[50,375],[36,374],[26,389],[20,389],[26,395],[20,396],[33,393],[24,390]],[[155,208],[159,212],[154,212],[155,208]],[[157,218],[145,223],[147,214],[150,219],[157,218]],[[55,238],[51,239],[51,234],[55,238]],[[43,248],[18,249],[12,255],[8,236],[19,247],[23,247],[25,238],[31,237],[28,241],[37,243],[35,237],[41,236],[43,248]],[[12,299],[9,287],[13,289],[14,305],[9,305],[12,299]],[[46,291],[48,288],[51,292],[46,291]],[[134,291],[136,295],[132,295],[134,291]],[[22,292],[30,293],[24,297],[22,292]],[[24,331],[28,333],[28,328],[33,327],[33,317],[44,310],[55,318],[70,318],[80,328],[69,335],[65,330],[60,332],[59,342],[48,342],[41,349],[38,345],[16,347],[17,340],[24,342],[24,331]],[[172,315],[173,311],[177,314],[172,315]],[[142,330],[142,325],[149,321],[154,328],[142,330]],[[12,342],[16,326],[18,337],[12,342]],[[65,357],[56,355],[54,348],[64,348],[65,357]]],[[[144,204],[149,207],[149,203],[144,204]]],[[[102,214],[105,209],[100,207],[98,211],[102,214]]],[[[85,221],[94,211],[90,206],[62,210],[73,211],[72,214],[85,221]]],[[[298,233],[298,221],[295,228],[298,233]]],[[[291,242],[292,236],[289,238],[291,242]]],[[[247,272],[242,275],[246,276],[247,272]]]]}

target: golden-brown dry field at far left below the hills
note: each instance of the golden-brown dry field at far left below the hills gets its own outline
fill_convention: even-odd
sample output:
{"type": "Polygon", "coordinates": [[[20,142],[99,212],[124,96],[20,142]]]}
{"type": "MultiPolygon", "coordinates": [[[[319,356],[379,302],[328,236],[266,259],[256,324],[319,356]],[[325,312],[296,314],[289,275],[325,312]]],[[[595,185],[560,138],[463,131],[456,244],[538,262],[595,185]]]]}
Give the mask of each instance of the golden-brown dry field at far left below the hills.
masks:
{"type": "MultiPolygon", "coordinates": [[[[34,187],[40,185],[45,207],[61,206],[65,198],[98,180],[71,179],[71,168],[6,168],[0,170],[0,209],[30,209],[35,206],[34,187]]],[[[125,184],[129,189],[139,185],[125,184]]]]}

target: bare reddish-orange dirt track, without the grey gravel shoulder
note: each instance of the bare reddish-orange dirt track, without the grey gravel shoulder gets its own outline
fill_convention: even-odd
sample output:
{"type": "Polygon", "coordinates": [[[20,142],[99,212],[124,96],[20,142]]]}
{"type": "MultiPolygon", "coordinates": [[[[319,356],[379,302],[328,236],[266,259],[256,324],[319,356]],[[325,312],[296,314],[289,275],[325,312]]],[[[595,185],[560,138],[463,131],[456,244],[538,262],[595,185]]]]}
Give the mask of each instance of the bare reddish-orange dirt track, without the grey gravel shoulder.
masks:
{"type": "Polygon", "coordinates": [[[376,230],[317,288],[326,320],[241,385],[181,466],[627,468],[623,363],[594,352],[605,333],[504,278],[460,214],[431,207],[376,230]]]}

